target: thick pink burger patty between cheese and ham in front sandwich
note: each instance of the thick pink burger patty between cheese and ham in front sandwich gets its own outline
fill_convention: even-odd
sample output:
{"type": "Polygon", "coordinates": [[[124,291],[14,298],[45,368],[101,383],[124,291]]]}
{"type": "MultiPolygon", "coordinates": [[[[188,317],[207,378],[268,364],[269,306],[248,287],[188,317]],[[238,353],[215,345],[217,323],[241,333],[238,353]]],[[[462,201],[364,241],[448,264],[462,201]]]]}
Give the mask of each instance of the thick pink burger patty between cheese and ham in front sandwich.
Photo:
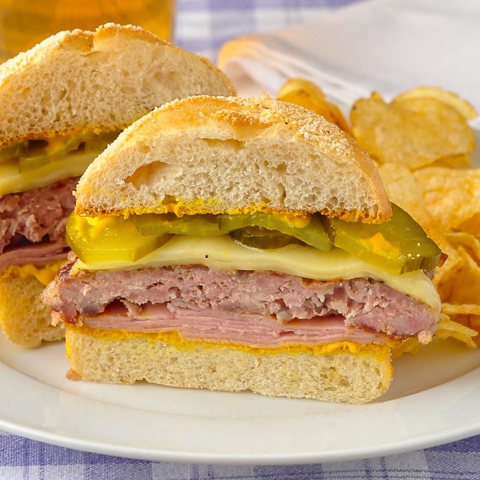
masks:
{"type": "Polygon", "coordinates": [[[248,313],[281,325],[340,316],[348,328],[393,338],[418,336],[426,343],[438,322],[438,313],[427,305],[371,278],[318,281],[202,265],[82,271],[72,277],[72,265],[73,261],[62,267],[47,286],[43,300],[62,320],[73,324],[114,310],[119,316],[139,320],[142,309],[138,306],[152,310],[152,305],[162,304],[178,315],[205,315],[209,311],[221,319],[221,315],[248,313]]]}

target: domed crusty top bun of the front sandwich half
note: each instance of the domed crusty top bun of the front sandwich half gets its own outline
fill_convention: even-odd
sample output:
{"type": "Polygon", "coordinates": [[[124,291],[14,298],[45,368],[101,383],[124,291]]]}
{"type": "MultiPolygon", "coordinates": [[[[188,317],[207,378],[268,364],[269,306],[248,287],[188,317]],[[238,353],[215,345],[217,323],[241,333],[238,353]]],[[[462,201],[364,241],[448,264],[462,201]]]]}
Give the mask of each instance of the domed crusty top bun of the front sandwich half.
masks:
{"type": "Polygon", "coordinates": [[[172,101],[127,128],[75,191],[80,215],[320,212],[386,221],[376,167],[336,125],[258,98],[172,101]]]}

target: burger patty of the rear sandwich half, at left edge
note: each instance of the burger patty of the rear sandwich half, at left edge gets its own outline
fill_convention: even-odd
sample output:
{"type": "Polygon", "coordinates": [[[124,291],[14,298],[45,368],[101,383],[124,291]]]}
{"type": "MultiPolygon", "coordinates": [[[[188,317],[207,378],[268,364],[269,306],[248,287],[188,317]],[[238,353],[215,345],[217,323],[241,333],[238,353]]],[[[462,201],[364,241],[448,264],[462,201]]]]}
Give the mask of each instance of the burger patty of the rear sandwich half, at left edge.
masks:
{"type": "Polygon", "coordinates": [[[0,197],[0,254],[5,248],[42,241],[58,242],[75,207],[78,178],[0,197]]]}

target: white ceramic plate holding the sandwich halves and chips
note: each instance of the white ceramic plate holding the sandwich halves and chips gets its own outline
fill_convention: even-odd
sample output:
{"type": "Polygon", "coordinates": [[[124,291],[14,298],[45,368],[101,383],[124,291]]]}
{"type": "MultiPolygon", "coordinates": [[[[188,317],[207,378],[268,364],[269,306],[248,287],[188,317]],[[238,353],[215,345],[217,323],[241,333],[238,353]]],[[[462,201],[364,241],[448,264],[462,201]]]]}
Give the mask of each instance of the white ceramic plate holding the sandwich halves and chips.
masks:
{"type": "Polygon", "coordinates": [[[367,458],[480,433],[480,350],[443,342],[394,367],[381,399],[343,405],[67,381],[63,344],[24,350],[0,337],[0,429],[95,453],[226,464],[367,458]]]}

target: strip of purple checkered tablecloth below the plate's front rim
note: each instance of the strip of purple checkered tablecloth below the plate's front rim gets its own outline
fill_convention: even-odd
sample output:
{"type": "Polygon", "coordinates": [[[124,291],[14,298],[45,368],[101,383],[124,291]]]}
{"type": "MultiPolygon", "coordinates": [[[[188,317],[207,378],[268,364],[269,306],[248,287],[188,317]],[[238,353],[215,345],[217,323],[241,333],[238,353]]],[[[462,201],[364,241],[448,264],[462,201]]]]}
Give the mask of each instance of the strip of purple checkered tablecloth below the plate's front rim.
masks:
{"type": "Polygon", "coordinates": [[[0,433],[0,479],[477,480],[480,435],[374,459],[288,466],[178,464],[97,455],[0,433]]]}

